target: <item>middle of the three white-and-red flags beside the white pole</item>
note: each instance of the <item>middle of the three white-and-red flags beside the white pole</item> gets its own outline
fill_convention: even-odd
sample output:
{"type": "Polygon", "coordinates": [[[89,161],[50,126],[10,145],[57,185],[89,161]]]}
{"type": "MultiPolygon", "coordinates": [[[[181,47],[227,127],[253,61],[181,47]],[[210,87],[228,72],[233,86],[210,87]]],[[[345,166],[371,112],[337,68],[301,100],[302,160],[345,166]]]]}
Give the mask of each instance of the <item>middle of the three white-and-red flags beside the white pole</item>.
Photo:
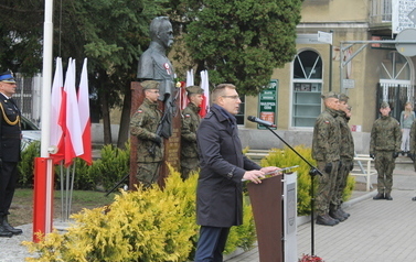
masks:
{"type": "Polygon", "coordinates": [[[65,76],[60,125],[64,131],[65,166],[68,166],[73,163],[74,157],[84,154],[78,101],[75,90],[75,61],[72,58],[70,58],[65,76]]]}

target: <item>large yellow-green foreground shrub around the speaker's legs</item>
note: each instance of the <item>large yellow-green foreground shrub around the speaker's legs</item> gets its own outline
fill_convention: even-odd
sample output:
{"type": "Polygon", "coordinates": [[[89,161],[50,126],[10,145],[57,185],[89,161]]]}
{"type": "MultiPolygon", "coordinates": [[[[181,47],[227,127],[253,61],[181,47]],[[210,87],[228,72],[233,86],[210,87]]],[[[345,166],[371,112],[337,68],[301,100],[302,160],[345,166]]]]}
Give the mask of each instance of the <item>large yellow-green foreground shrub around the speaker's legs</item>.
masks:
{"type": "MultiPolygon", "coordinates": [[[[199,226],[195,223],[195,174],[182,182],[170,170],[163,190],[121,192],[108,207],[84,209],[73,215],[75,223],[65,233],[56,231],[39,243],[24,242],[38,258],[26,261],[189,261],[193,258],[199,226]]],[[[226,250],[255,241],[249,206],[244,225],[233,227],[226,250]]]]}

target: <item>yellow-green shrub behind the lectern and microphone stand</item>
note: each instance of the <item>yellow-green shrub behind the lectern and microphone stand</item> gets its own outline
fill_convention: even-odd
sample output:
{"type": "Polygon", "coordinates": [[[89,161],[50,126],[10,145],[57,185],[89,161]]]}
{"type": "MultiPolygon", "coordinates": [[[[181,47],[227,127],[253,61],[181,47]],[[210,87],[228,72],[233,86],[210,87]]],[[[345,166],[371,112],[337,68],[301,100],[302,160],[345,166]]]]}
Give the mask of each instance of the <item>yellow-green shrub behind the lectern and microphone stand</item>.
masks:
{"type": "MultiPolygon", "coordinates": [[[[311,149],[305,148],[303,145],[294,146],[294,149],[303,156],[310,164],[317,166],[317,162],[311,156],[311,149]]],[[[310,167],[305,163],[295,152],[289,148],[273,149],[271,152],[262,160],[262,166],[279,166],[288,167],[294,165],[299,165],[296,171],[298,173],[298,216],[310,215],[310,186],[311,186],[311,176],[309,175],[310,167]]],[[[317,192],[318,179],[314,179],[314,193],[317,192]]],[[[343,194],[343,199],[348,200],[351,197],[352,189],[354,188],[354,178],[349,177],[348,186],[343,194]]]]}

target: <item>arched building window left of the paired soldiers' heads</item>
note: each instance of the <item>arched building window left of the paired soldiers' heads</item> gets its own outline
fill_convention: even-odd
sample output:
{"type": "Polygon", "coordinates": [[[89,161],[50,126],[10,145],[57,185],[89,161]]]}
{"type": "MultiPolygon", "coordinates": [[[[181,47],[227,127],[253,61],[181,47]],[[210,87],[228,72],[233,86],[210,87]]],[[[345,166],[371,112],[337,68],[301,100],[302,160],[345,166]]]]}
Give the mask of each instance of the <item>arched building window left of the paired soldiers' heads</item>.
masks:
{"type": "Polygon", "coordinates": [[[313,51],[299,53],[294,61],[292,122],[296,128],[312,128],[321,113],[322,59],[313,51]]]}

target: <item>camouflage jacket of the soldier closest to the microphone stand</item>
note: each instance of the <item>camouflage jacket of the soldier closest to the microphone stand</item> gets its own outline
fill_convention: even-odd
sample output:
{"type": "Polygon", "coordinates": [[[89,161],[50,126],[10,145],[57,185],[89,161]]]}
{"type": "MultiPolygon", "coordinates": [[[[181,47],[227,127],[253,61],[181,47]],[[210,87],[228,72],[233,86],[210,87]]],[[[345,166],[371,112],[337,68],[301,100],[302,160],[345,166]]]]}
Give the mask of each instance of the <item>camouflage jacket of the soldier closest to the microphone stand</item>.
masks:
{"type": "Polygon", "coordinates": [[[341,131],[338,111],[327,108],[318,116],[313,128],[312,157],[321,162],[340,160],[341,131]]]}

